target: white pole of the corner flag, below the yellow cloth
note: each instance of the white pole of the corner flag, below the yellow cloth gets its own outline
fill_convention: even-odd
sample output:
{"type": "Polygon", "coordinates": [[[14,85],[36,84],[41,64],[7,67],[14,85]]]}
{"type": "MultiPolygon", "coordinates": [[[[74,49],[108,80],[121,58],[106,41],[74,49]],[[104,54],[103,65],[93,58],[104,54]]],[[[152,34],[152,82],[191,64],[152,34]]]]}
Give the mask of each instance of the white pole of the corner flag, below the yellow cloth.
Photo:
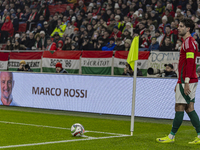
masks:
{"type": "Polygon", "coordinates": [[[134,119],[135,119],[135,95],[136,95],[136,77],[137,77],[137,60],[134,65],[134,76],[133,76],[133,96],[132,96],[132,110],[131,110],[131,136],[134,131],[134,119]]]}

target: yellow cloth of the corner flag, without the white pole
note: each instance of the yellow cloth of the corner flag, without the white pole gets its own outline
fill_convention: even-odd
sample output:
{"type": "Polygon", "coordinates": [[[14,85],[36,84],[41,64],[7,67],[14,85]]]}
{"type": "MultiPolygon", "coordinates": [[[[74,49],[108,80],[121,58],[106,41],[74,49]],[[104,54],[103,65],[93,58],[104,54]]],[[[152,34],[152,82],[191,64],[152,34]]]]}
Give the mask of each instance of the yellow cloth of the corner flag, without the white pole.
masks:
{"type": "Polygon", "coordinates": [[[134,37],[131,47],[129,49],[127,63],[131,66],[134,71],[135,61],[138,60],[138,50],[139,50],[139,36],[134,37]]]}

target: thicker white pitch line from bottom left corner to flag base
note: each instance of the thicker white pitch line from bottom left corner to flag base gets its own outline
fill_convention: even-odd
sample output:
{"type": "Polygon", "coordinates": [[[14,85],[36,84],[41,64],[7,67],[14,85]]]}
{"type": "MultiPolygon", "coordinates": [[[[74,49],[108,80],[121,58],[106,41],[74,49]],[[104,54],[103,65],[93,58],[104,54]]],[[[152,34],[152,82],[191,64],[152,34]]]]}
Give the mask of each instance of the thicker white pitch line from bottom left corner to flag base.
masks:
{"type": "Polygon", "coordinates": [[[76,141],[89,141],[89,140],[98,140],[98,139],[110,139],[117,137],[128,137],[130,135],[120,135],[120,136],[107,136],[107,137],[89,137],[87,139],[74,139],[74,140],[63,140],[63,141],[52,141],[52,142],[43,142],[43,143],[32,143],[32,144],[20,144],[20,145],[8,145],[8,146],[0,146],[2,148],[14,148],[14,147],[26,147],[26,146],[37,146],[37,145],[47,145],[47,144],[58,144],[58,143],[68,143],[68,142],[76,142],[76,141]]]}

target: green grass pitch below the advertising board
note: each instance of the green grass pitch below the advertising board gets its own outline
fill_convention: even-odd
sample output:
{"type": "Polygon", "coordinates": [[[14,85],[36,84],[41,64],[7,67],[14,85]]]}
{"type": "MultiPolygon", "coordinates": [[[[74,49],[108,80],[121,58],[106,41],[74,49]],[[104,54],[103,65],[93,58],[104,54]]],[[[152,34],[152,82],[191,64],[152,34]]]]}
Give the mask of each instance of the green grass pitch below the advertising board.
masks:
{"type": "Polygon", "coordinates": [[[184,121],[173,144],[160,144],[172,120],[0,106],[0,149],[14,150],[198,150],[189,145],[196,132],[184,121]],[[81,123],[85,137],[72,137],[71,125],[81,123]]]}

